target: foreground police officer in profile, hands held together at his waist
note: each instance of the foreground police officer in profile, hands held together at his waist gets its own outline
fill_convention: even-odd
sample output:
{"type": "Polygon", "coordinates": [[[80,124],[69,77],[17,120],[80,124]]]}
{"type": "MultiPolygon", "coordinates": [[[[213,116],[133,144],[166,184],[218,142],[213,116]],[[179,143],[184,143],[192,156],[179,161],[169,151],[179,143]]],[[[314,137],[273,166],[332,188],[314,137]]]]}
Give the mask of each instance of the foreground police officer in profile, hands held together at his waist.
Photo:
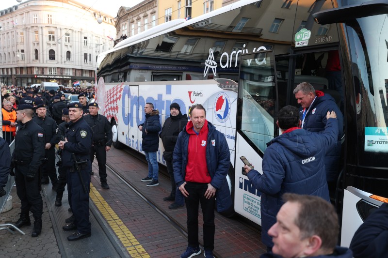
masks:
{"type": "Polygon", "coordinates": [[[69,104],[69,127],[65,140],[58,143],[62,149],[62,164],[67,171],[67,193],[74,221],[62,227],[65,231],[77,232],[67,237],[68,241],[80,240],[91,236],[89,221],[90,163],[89,152],[92,148],[93,132],[83,120],[83,109],[79,102],[69,104]]]}

